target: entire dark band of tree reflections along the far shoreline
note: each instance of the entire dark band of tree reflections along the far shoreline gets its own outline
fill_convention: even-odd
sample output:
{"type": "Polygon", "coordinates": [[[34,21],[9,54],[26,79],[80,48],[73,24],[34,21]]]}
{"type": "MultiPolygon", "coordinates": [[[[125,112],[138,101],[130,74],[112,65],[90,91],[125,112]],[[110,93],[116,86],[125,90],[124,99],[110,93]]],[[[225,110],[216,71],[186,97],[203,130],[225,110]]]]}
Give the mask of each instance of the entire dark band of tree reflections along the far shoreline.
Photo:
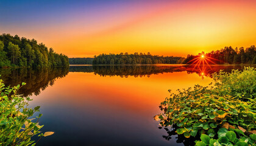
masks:
{"type": "Polygon", "coordinates": [[[65,77],[68,72],[87,72],[100,75],[101,77],[151,77],[172,72],[187,72],[187,74],[196,73],[203,79],[212,77],[214,72],[224,70],[226,72],[232,69],[243,69],[244,66],[193,66],[193,65],[126,65],[126,66],[70,66],[69,68],[55,69],[0,69],[0,75],[5,85],[16,86],[22,82],[27,85],[20,89],[20,94],[31,96],[33,93],[39,95],[40,91],[46,89],[49,85],[54,85],[57,78],[65,77]]]}

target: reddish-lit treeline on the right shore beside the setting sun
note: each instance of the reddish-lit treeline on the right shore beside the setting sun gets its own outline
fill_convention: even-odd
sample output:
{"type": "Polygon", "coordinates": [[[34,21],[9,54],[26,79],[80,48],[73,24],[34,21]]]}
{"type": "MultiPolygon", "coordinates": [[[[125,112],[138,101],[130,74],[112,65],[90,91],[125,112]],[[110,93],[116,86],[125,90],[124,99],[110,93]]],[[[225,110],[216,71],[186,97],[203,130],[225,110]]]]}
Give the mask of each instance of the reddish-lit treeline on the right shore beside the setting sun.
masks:
{"type": "MultiPolygon", "coordinates": [[[[204,54],[204,52],[202,52],[204,54]]],[[[191,64],[193,63],[194,58],[199,57],[200,55],[188,55],[184,63],[191,64]]],[[[236,47],[233,49],[230,47],[224,47],[224,49],[212,51],[210,53],[204,54],[205,57],[211,61],[207,61],[208,64],[256,64],[256,48],[255,46],[236,47]]]]}

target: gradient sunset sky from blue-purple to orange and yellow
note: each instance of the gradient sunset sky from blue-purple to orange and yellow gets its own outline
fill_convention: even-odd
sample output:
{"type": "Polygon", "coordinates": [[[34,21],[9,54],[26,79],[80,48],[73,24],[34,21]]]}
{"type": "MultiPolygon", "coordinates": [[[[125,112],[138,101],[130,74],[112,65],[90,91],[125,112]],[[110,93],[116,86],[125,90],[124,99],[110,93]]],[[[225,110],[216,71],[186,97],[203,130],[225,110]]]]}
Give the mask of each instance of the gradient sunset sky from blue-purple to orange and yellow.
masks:
{"type": "Polygon", "coordinates": [[[0,33],[68,57],[197,54],[256,44],[256,1],[0,0],[0,33]]]}

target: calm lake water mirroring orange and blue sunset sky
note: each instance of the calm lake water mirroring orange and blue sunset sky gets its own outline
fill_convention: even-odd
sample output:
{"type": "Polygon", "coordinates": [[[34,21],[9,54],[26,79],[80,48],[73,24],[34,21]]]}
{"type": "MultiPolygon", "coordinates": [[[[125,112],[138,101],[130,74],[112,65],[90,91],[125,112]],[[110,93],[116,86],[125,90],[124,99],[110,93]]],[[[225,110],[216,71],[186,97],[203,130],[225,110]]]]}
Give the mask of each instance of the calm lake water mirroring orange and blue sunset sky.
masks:
{"type": "Polygon", "coordinates": [[[20,93],[32,96],[31,107],[41,106],[42,131],[55,132],[38,145],[184,145],[182,137],[158,129],[158,105],[168,89],[208,85],[219,69],[243,66],[70,66],[0,74],[6,85],[27,83],[20,93]]]}

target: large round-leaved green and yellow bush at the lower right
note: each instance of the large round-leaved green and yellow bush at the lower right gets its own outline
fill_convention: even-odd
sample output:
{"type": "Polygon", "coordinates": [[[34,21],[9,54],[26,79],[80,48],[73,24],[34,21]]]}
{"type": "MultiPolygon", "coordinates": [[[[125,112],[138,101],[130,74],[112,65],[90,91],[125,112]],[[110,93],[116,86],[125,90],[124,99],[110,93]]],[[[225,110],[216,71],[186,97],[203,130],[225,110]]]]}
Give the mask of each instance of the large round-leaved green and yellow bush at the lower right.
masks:
{"type": "Polygon", "coordinates": [[[255,85],[254,72],[254,68],[229,74],[220,72],[213,75],[215,86],[195,85],[193,89],[178,90],[161,103],[163,113],[155,119],[163,127],[176,125],[176,133],[184,137],[200,137],[196,145],[255,145],[255,102],[249,95],[254,92],[243,90],[255,85]],[[246,86],[244,76],[252,80],[246,86]]]}

